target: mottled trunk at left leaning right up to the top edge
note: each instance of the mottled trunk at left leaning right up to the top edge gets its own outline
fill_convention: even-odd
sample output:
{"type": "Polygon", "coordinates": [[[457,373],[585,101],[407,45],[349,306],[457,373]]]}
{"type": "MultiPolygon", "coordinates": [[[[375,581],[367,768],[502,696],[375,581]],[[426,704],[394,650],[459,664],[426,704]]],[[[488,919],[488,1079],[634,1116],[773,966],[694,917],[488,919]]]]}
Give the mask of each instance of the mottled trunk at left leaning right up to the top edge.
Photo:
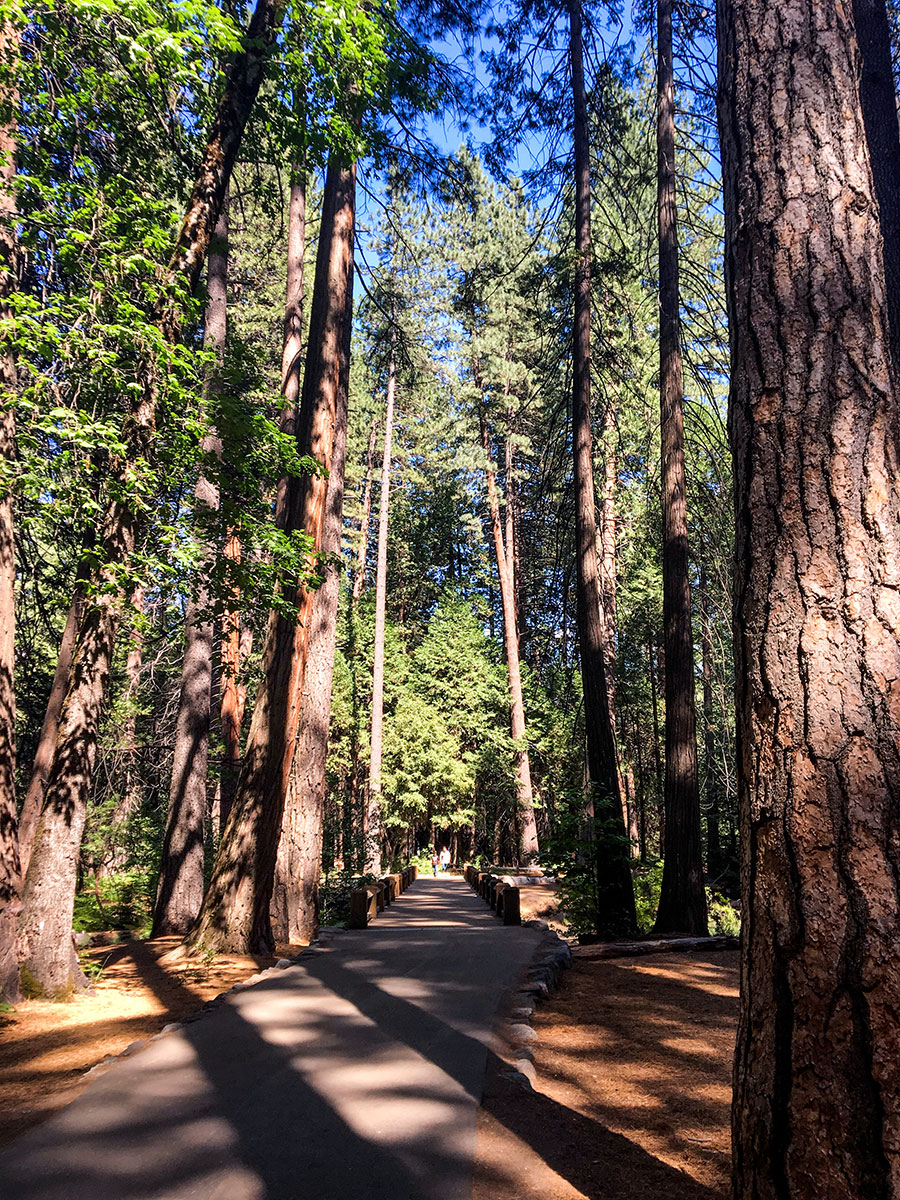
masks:
{"type": "MultiPolygon", "coordinates": [[[[156,305],[156,320],[167,340],[179,336],[181,295],[197,284],[212,232],[222,210],[228,180],[244,128],[263,80],[265,60],[275,38],[275,0],[257,0],[247,29],[247,49],[230,66],[212,131],[206,144],[185,221],[156,305]]],[[[110,463],[116,490],[127,496],[139,462],[150,452],[158,397],[150,364],[143,364],[144,388],[124,425],[121,457],[110,463]]],[[[24,965],[35,985],[48,994],[80,986],[83,977],[72,949],[72,910],[78,852],[96,761],[100,715],[122,608],[119,568],[134,551],[138,514],[114,500],[103,524],[107,565],[76,638],[76,655],[60,714],[59,736],[47,782],[23,893],[19,934],[24,965]]]]}

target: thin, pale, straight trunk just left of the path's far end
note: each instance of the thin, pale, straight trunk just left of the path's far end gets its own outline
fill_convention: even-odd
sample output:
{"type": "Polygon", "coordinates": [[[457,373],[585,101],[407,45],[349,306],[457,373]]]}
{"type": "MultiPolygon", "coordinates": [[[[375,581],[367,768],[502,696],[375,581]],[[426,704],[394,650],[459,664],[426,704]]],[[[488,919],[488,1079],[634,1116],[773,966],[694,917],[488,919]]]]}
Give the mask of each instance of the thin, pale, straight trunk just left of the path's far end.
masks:
{"type": "Polygon", "coordinates": [[[391,353],[388,365],[388,397],[384,410],[384,451],[382,454],[382,496],[378,509],[378,562],[376,566],[376,622],[372,654],[372,726],[368,760],[368,802],[366,804],[366,872],[382,874],[382,728],[384,721],[384,624],[388,601],[388,521],[391,497],[391,439],[394,437],[394,391],[396,386],[394,348],[396,330],[391,326],[391,353]]]}

